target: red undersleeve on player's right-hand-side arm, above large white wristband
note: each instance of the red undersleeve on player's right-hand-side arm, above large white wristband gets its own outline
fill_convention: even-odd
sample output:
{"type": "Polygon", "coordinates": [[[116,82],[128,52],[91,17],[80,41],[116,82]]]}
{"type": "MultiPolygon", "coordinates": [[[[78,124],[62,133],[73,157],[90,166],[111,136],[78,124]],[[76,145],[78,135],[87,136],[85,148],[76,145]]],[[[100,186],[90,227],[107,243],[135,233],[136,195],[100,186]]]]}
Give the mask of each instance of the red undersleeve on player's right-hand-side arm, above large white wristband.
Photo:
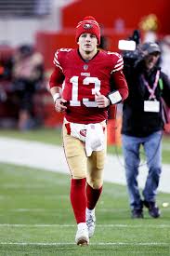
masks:
{"type": "Polygon", "coordinates": [[[123,71],[112,73],[111,79],[114,82],[114,87],[119,90],[121,96],[125,100],[128,97],[128,87],[123,71]]]}

